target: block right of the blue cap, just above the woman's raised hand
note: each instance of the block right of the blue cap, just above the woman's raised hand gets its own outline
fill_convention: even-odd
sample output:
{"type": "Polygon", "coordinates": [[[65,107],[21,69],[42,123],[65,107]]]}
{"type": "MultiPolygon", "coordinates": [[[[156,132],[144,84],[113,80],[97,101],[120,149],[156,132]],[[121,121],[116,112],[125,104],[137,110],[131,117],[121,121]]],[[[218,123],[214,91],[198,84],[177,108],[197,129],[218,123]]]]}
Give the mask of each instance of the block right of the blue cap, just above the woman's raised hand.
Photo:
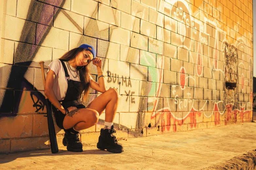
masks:
{"type": "Polygon", "coordinates": [[[120,44],[98,40],[97,56],[113,60],[120,60],[120,44]]]}

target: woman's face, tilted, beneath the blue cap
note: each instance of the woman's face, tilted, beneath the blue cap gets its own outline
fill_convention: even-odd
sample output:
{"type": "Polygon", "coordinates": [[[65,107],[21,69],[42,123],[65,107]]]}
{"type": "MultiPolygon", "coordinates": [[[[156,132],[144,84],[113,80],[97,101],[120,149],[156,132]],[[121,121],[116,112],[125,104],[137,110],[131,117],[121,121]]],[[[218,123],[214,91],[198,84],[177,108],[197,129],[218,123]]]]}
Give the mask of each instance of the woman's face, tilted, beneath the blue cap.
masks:
{"type": "Polygon", "coordinates": [[[93,54],[91,51],[83,50],[82,52],[78,53],[76,57],[76,65],[77,66],[84,66],[91,63],[93,60],[93,54]]]}

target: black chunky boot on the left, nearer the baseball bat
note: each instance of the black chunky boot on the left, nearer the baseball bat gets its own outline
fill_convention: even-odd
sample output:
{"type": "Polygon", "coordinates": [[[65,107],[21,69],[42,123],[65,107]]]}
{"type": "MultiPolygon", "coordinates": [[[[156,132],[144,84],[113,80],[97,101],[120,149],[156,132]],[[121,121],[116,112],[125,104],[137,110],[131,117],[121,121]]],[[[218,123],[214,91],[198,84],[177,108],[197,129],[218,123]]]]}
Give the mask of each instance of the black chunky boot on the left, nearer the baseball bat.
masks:
{"type": "Polygon", "coordinates": [[[67,146],[67,150],[71,152],[82,152],[83,144],[80,142],[78,136],[79,132],[74,130],[73,128],[64,129],[65,135],[62,140],[62,144],[67,146]]]}

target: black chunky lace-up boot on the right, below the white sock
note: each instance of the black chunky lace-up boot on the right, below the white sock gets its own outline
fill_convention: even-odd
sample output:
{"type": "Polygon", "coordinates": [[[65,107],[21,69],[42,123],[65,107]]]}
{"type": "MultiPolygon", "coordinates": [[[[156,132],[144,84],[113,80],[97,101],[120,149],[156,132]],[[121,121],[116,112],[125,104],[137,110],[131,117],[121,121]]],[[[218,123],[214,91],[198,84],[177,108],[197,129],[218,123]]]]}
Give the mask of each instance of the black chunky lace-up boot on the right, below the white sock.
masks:
{"type": "Polygon", "coordinates": [[[97,148],[101,150],[107,149],[109,152],[113,153],[122,153],[124,148],[121,143],[117,142],[115,137],[116,131],[114,130],[114,126],[111,126],[111,130],[109,129],[101,129],[99,141],[97,143],[97,148]],[[109,132],[110,131],[110,132],[109,132]]]}

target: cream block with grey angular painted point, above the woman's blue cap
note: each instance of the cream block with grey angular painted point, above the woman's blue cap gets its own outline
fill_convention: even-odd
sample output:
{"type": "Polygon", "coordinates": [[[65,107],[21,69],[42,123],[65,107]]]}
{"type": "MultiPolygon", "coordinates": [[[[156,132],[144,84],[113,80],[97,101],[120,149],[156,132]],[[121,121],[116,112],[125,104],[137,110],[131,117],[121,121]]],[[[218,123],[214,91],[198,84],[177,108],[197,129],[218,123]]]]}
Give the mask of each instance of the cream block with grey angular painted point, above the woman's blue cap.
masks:
{"type": "Polygon", "coordinates": [[[84,17],[84,34],[94,38],[109,40],[109,24],[84,17]]]}

